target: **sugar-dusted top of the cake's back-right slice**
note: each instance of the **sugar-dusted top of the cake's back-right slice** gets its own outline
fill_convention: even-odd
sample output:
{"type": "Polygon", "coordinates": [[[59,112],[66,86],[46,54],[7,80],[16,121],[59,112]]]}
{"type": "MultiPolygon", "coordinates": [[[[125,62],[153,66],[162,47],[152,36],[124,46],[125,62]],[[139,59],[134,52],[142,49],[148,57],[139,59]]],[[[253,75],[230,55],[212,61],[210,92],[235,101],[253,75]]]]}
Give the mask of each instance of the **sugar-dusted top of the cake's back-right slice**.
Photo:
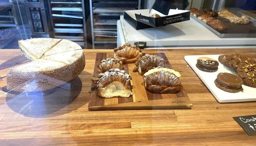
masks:
{"type": "Polygon", "coordinates": [[[44,55],[49,56],[61,52],[71,51],[71,50],[82,50],[82,48],[75,42],[69,41],[67,39],[63,39],[54,46],[52,49],[47,51],[44,55]]]}

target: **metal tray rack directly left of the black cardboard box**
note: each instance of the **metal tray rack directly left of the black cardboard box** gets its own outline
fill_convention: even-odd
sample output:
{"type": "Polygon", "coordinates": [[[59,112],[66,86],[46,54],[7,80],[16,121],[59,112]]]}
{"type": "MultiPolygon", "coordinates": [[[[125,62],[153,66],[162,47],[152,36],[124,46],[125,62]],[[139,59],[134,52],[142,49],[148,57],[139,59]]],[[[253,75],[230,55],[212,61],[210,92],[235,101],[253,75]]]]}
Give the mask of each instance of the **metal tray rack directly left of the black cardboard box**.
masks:
{"type": "Polygon", "coordinates": [[[123,11],[140,9],[141,0],[90,0],[92,45],[117,43],[117,20],[123,11]]]}

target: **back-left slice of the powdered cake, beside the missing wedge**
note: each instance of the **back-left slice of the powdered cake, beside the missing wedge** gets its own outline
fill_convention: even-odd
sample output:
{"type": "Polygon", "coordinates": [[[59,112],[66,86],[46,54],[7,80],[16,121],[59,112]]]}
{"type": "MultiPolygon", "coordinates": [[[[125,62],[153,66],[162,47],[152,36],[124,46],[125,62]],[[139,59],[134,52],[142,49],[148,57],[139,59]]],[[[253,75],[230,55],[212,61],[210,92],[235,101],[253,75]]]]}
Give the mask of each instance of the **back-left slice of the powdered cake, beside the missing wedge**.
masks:
{"type": "Polygon", "coordinates": [[[33,38],[20,40],[19,48],[22,53],[31,60],[41,58],[45,52],[49,51],[59,43],[61,39],[53,38],[33,38]]]}

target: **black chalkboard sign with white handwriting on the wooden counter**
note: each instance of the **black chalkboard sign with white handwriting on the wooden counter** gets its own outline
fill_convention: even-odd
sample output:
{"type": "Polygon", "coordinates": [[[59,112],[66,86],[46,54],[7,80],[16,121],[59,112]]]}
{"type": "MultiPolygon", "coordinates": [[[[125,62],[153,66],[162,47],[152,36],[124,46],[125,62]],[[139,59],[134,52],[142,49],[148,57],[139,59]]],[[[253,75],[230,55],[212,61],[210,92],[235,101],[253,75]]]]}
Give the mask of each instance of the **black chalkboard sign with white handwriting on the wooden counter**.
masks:
{"type": "Polygon", "coordinates": [[[256,135],[256,115],[233,117],[248,135],[256,135]]]}

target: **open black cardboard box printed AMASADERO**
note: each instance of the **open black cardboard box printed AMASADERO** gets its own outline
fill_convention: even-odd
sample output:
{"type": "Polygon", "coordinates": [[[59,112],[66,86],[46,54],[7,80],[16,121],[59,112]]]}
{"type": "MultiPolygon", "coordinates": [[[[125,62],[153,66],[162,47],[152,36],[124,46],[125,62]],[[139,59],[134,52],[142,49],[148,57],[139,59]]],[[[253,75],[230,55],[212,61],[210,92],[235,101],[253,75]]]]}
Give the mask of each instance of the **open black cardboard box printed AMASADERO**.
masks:
{"type": "Polygon", "coordinates": [[[154,9],[151,9],[151,11],[150,9],[124,11],[124,19],[136,30],[187,21],[190,19],[189,15],[189,11],[179,9],[170,9],[168,15],[163,15],[154,9]],[[158,14],[161,17],[152,18],[150,17],[152,14],[158,14]]]}

